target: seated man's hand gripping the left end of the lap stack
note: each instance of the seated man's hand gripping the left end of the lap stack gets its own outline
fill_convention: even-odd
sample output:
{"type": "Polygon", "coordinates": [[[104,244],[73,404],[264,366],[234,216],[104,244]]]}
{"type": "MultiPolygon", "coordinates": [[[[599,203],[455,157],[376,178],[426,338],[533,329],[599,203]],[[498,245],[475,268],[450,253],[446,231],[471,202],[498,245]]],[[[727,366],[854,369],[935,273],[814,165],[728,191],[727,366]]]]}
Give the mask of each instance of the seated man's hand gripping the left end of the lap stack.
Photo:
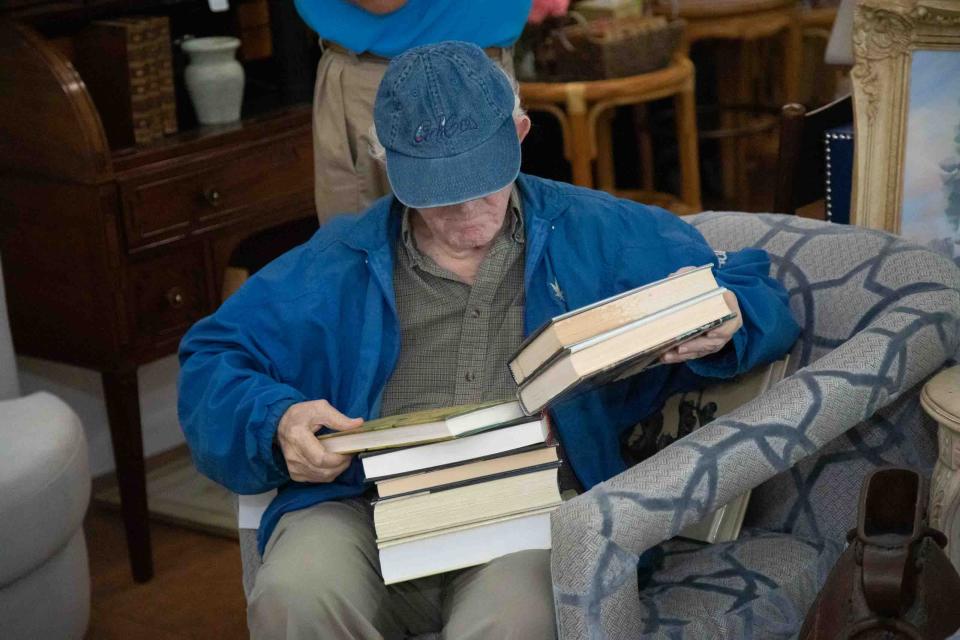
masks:
{"type": "Polygon", "coordinates": [[[290,478],[297,482],[331,482],[350,465],[352,456],[327,451],[316,431],[356,429],[363,418],[348,418],[326,400],[290,405],[277,425],[277,443],[287,461],[290,478]]]}

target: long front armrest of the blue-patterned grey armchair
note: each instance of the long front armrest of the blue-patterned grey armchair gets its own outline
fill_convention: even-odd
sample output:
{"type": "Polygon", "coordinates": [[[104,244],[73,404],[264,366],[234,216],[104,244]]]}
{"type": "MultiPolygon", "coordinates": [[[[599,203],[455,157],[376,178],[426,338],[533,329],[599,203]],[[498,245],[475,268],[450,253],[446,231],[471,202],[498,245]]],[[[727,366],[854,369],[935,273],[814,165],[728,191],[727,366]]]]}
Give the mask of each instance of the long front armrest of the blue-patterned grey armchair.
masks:
{"type": "Polygon", "coordinates": [[[956,353],[955,289],[894,304],[762,396],[561,505],[551,560],[560,637],[635,637],[642,552],[818,451],[956,353]]]}

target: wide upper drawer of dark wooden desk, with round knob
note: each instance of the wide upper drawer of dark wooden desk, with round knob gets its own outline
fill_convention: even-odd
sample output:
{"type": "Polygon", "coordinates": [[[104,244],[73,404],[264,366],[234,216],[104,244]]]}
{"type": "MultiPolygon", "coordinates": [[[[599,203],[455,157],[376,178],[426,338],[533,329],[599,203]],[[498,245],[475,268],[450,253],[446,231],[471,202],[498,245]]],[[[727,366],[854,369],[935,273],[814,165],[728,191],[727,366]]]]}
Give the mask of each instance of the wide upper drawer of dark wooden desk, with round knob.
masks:
{"type": "Polygon", "coordinates": [[[170,242],[313,189],[308,136],[237,147],[121,180],[127,246],[170,242]]]}

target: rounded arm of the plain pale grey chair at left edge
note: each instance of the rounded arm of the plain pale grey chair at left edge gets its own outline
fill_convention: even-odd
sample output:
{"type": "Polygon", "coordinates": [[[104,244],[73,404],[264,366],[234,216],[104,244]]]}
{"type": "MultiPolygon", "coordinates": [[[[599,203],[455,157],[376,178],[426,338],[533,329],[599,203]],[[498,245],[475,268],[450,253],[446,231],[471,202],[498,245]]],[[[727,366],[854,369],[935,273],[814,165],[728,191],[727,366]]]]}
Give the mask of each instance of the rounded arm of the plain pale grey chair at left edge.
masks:
{"type": "Polygon", "coordinates": [[[90,502],[80,419],[49,393],[0,402],[0,587],[53,556],[90,502]]]}

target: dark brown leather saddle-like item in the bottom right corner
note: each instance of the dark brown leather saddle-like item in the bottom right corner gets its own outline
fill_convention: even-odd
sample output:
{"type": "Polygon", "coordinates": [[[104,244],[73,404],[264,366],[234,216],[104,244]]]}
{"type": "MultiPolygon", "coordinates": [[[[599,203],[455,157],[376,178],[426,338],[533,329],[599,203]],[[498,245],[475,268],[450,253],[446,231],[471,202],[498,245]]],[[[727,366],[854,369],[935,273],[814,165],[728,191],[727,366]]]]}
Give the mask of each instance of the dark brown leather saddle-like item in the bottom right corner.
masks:
{"type": "Polygon", "coordinates": [[[801,640],[939,640],[960,628],[960,575],[927,526],[926,479],[883,468],[864,480],[857,528],[807,613],[801,640]]]}

